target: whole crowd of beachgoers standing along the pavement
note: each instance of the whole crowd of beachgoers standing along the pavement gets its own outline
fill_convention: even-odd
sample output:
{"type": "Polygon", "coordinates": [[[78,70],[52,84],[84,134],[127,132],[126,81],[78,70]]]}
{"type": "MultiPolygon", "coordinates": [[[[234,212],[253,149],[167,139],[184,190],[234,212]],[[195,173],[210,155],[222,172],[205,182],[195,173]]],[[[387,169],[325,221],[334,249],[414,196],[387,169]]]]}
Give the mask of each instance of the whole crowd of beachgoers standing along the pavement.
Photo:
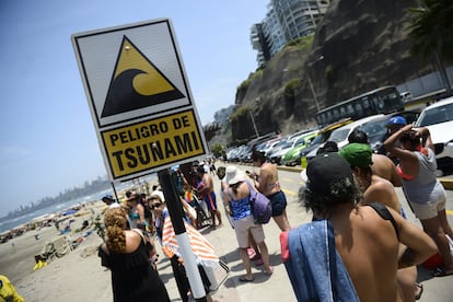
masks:
{"type": "MultiPolygon", "coordinates": [[[[252,154],[256,172],[244,173],[233,165],[216,169],[213,162],[196,162],[185,172],[174,169],[171,175],[184,223],[194,234],[190,237],[208,251],[202,255],[194,249],[207,301],[212,301],[210,280],[201,264],[219,259],[198,230],[221,228],[225,217],[245,270],[239,281],[254,281],[253,260],[263,265],[269,278],[274,272],[265,228],[253,216],[252,190],[270,201],[272,220],[281,231],[281,257],[300,301],[418,300],[423,286],[417,282],[416,266],[437,253],[443,265],[433,276],[452,275],[448,236],[453,233],[445,213],[446,195],[435,178],[429,130],[413,129],[411,125],[395,129],[394,121],[388,124],[392,131],[384,142],[384,154],[373,153],[367,133],[360,130],[349,136],[341,150],[334,142],[320,149],[307,164],[301,195],[313,221],[300,226],[290,224],[277,166],[262,152],[252,154]],[[218,193],[216,175],[221,184],[218,193]],[[406,220],[402,206],[406,200],[399,200],[395,191],[400,186],[422,229],[406,220]]],[[[112,270],[115,301],[142,301],[151,295],[155,301],[169,301],[155,265],[154,237],[171,260],[182,300],[188,301],[190,284],[177,244],[169,237],[174,231],[162,190],[154,187],[149,197],[128,191],[124,202],[112,196],[103,200],[108,209],[100,256],[112,270]]]]}

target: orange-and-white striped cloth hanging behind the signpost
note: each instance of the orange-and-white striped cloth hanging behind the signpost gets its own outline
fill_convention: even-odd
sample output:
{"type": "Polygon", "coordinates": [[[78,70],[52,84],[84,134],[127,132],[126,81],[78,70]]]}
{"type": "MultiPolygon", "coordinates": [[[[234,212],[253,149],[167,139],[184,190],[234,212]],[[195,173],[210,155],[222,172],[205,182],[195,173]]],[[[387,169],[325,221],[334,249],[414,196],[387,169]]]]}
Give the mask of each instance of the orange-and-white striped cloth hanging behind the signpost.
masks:
{"type": "MultiPolygon", "coordinates": [[[[188,241],[197,263],[202,266],[219,267],[219,257],[216,255],[212,244],[194,226],[187,222],[184,222],[184,224],[186,226],[188,241]]],[[[162,232],[162,245],[181,257],[179,246],[177,244],[175,231],[170,217],[165,218],[162,232]]]]}

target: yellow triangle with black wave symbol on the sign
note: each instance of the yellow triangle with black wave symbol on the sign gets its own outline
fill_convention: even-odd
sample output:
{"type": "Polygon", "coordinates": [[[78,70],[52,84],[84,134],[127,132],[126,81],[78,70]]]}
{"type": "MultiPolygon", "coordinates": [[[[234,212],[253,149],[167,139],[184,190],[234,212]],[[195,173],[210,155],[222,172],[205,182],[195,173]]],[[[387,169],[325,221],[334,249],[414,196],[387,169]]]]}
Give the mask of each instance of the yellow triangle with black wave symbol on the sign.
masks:
{"type": "Polygon", "coordinates": [[[185,95],[125,35],[101,117],[182,97],[185,95]]]}

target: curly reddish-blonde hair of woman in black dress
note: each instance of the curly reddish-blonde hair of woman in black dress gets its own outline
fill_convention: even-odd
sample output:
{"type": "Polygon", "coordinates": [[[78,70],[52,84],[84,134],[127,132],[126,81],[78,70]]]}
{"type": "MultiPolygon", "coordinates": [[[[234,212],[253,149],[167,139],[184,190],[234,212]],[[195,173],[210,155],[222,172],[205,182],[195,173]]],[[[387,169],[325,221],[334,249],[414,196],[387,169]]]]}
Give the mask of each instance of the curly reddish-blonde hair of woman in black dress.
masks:
{"type": "Polygon", "coordinates": [[[126,249],[125,229],[127,219],[121,208],[107,209],[104,214],[104,224],[106,228],[105,243],[113,253],[124,253],[126,249]]]}

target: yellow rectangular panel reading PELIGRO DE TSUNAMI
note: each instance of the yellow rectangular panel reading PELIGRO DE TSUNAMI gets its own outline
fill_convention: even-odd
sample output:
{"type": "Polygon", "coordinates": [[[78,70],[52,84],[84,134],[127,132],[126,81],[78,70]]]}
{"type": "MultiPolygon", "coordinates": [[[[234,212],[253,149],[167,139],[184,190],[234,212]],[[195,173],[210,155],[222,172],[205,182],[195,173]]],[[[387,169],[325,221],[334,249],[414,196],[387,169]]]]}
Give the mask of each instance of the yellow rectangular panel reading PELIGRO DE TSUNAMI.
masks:
{"type": "Polygon", "coordinates": [[[191,109],[101,135],[115,179],[206,153],[191,109]]]}

